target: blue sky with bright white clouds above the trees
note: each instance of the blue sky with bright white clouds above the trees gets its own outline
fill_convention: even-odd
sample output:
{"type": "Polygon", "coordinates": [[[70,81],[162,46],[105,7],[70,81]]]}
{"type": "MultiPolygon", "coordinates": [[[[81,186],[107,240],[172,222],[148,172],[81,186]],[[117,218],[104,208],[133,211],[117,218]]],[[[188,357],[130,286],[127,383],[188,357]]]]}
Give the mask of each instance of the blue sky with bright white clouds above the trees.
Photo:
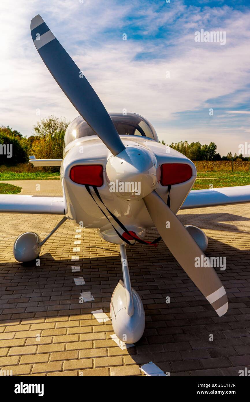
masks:
{"type": "Polygon", "coordinates": [[[1,0],[0,125],[27,136],[78,115],[31,39],[37,14],[108,112],[144,116],[166,144],[250,143],[249,0],[1,0]]]}

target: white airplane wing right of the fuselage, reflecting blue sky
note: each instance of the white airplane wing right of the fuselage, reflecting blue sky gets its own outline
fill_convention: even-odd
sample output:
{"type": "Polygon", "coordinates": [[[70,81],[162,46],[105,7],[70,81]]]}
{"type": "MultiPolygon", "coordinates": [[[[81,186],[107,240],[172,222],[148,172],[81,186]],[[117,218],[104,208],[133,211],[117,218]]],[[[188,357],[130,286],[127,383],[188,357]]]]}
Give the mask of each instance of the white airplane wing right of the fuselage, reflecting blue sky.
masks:
{"type": "Polygon", "coordinates": [[[191,190],[180,209],[214,207],[250,202],[250,186],[191,190]]]}

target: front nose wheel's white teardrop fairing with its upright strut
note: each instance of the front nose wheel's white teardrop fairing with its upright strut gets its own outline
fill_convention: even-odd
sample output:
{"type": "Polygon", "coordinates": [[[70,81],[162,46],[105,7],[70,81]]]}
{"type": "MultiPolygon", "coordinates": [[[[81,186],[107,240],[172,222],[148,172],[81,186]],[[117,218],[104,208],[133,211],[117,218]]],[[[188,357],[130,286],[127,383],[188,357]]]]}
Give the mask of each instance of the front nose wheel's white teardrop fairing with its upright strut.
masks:
{"type": "Polygon", "coordinates": [[[124,343],[137,342],[144,332],[145,312],[138,293],[131,287],[125,244],[120,245],[123,282],[116,286],[111,302],[110,317],[114,333],[124,343]]]}

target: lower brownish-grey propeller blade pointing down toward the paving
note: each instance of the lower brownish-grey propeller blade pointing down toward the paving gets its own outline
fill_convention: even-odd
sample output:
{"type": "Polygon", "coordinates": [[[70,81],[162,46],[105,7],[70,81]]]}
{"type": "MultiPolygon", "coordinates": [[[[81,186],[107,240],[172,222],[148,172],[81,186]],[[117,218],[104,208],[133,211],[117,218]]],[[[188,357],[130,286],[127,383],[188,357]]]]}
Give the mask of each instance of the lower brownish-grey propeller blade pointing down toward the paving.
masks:
{"type": "Polygon", "coordinates": [[[218,316],[223,316],[228,310],[226,291],[213,268],[195,267],[195,258],[202,258],[203,254],[195,240],[155,191],[144,197],[144,203],[166,246],[218,316]],[[169,228],[166,222],[170,223],[169,228]]]}

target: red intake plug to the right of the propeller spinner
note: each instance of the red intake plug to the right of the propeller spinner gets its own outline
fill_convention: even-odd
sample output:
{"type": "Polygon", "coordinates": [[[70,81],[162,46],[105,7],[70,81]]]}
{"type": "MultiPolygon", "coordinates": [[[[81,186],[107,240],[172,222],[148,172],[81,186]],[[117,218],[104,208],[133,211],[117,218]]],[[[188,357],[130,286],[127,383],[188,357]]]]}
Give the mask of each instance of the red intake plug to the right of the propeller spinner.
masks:
{"type": "Polygon", "coordinates": [[[164,163],[161,165],[161,185],[183,183],[192,176],[191,166],[185,163],[164,163]]]}

